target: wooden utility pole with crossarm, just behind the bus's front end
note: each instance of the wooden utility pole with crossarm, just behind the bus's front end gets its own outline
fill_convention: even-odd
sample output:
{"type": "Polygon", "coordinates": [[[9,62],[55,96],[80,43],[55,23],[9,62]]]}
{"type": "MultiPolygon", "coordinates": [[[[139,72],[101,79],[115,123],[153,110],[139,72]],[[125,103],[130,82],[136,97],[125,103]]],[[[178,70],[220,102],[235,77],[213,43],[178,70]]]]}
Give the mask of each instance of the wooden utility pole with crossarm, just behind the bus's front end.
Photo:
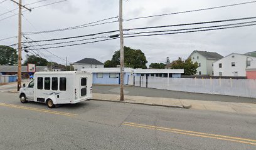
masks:
{"type": "MultiPolygon", "coordinates": [[[[22,1],[19,0],[19,3],[11,0],[13,2],[15,2],[16,4],[18,4],[19,6],[19,25],[18,25],[18,85],[17,85],[17,91],[19,91],[19,89],[21,88],[21,8],[26,8],[25,6],[22,5],[22,1]]],[[[28,8],[26,8],[28,9],[28,8]]],[[[31,9],[28,9],[29,11],[31,11],[31,9]]]]}

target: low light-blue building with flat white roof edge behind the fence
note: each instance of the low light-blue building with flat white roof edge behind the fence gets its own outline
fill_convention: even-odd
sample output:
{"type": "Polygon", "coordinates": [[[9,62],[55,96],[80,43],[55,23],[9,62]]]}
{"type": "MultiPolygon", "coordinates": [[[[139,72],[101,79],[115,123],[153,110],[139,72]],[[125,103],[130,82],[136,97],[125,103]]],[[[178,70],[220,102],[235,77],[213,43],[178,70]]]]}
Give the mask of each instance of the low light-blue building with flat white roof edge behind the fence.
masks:
{"type": "MultiPolygon", "coordinates": [[[[82,71],[93,74],[93,84],[120,84],[120,68],[85,68],[82,71]]],[[[183,69],[124,68],[124,84],[128,84],[129,76],[181,78],[183,73],[183,69]]]]}

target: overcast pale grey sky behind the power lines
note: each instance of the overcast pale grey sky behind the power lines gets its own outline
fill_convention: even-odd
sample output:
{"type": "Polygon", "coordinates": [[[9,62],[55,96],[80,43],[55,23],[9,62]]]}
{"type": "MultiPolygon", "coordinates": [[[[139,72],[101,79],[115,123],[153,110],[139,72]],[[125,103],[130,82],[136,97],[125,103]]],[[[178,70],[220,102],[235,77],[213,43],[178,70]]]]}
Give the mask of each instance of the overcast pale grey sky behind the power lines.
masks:
{"type": "MultiPolygon", "coordinates": [[[[23,4],[26,5],[36,1],[40,0],[23,0],[23,4]]],[[[33,5],[29,5],[28,8],[34,8],[36,6],[49,4],[55,1],[60,0],[42,1],[33,5]]],[[[248,0],[125,0],[123,1],[123,19],[179,11],[189,11],[194,9],[210,8],[240,2],[248,2],[248,0]]],[[[4,1],[0,4],[0,14],[15,8],[17,8],[17,5],[14,4],[14,2],[4,1]]],[[[2,15],[0,16],[0,20],[3,19],[4,17],[8,17],[16,13],[18,13],[18,10],[2,15]]],[[[256,2],[240,6],[232,6],[228,8],[219,8],[161,17],[150,17],[145,19],[137,19],[133,21],[124,21],[123,26],[124,29],[134,27],[164,26],[191,22],[235,19],[240,17],[254,17],[256,16],[255,14],[256,2]]],[[[52,29],[61,29],[65,27],[78,26],[81,24],[86,24],[88,22],[99,21],[101,19],[115,16],[119,16],[119,0],[68,0],[57,4],[52,4],[50,6],[32,9],[31,12],[24,11],[22,30],[23,32],[48,31],[52,29]]],[[[117,21],[117,18],[111,19],[109,21],[117,21]]],[[[251,21],[255,21],[255,19],[251,21]]],[[[205,25],[198,25],[193,27],[201,26],[205,25]]],[[[184,27],[169,27],[166,29],[183,28],[184,27]]],[[[118,29],[119,23],[113,22],[110,24],[83,27],[81,29],[72,29],[68,31],[28,35],[27,37],[36,41],[43,39],[81,36],[85,34],[112,31],[118,29]]],[[[151,30],[147,29],[144,31],[151,30]]],[[[125,31],[124,33],[132,32],[139,31],[125,31]]],[[[117,33],[118,32],[112,34],[117,33]]],[[[112,34],[104,34],[102,36],[110,36],[112,34]]],[[[17,35],[18,15],[0,21],[0,39],[17,35]]],[[[186,59],[188,58],[189,54],[191,54],[194,50],[216,52],[223,56],[227,56],[230,53],[243,54],[251,51],[256,51],[255,39],[256,26],[247,26],[233,29],[190,32],[183,34],[169,34],[163,36],[130,37],[124,39],[124,45],[132,47],[133,49],[141,49],[141,51],[145,54],[147,58],[147,66],[149,66],[149,64],[151,63],[164,63],[166,57],[169,57],[171,61],[178,59],[178,57],[186,59]]],[[[0,41],[0,45],[11,45],[17,42],[18,38],[14,37],[12,39],[0,41]]],[[[47,43],[50,42],[41,42],[40,44],[47,43]]],[[[13,47],[17,48],[17,46],[13,47]]],[[[48,51],[63,59],[67,57],[68,61],[72,63],[79,61],[83,58],[95,58],[104,63],[105,61],[111,59],[112,55],[114,54],[114,51],[117,51],[118,49],[120,49],[120,40],[113,39],[110,41],[95,42],[79,46],[48,49],[48,51]]],[[[56,56],[53,56],[44,49],[38,51],[43,53],[44,56],[42,54],[40,54],[40,56],[42,58],[46,58],[48,61],[54,61],[56,63],[65,64],[64,60],[57,58],[56,56]]],[[[23,52],[23,60],[25,58],[25,55],[26,53],[23,52]]]]}

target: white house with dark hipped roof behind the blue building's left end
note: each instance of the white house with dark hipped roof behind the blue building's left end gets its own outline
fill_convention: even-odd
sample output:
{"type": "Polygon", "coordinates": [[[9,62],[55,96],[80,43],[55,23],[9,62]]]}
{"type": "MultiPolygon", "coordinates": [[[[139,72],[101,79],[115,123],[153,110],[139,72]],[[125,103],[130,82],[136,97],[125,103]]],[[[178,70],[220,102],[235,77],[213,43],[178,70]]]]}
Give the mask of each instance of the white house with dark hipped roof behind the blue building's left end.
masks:
{"type": "Polygon", "coordinates": [[[104,64],[94,58],[85,58],[72,64],[75,71],[85,68],[104,68],[104,64]]]}

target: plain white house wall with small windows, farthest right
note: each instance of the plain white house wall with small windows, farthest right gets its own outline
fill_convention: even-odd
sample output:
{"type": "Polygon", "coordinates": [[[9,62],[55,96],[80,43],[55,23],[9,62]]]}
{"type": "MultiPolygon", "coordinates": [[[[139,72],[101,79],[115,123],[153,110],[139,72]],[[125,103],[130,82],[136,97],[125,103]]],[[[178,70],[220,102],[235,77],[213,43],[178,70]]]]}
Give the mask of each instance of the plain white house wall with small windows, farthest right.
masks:
{"type": "Polygon", "coordinates": [[[251,65],[254,65],[253,62],[256,61],[256,58],[242,54],[230,54],[213,63],[214,76],[219,76],[220,73],[222,76],[246,76],[247,61],[251,61],[251,65]],[[232,62],[235,63],[235,66],[232,66],[232,62]],[[221,64],[221,68],[219,68],[219,64],[221,64]]]}

